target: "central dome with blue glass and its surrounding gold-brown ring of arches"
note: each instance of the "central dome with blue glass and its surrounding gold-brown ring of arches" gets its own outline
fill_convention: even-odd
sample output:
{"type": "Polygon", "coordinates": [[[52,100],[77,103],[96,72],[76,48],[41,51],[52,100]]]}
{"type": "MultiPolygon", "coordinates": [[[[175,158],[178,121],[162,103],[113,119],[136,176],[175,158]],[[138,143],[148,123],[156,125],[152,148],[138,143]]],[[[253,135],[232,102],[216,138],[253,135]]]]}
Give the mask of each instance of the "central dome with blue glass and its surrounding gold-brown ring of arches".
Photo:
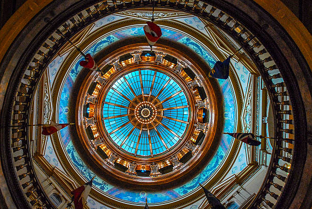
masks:
{"type": "Polygon", "coordinates": [[[144,190],[185,181],[218,144],[218,86],[203,80],[200,61],[167,47],[150,53],[133,44],[111,54],[84,79],[76,103],[90,161],[103,177],[144,190]]]}

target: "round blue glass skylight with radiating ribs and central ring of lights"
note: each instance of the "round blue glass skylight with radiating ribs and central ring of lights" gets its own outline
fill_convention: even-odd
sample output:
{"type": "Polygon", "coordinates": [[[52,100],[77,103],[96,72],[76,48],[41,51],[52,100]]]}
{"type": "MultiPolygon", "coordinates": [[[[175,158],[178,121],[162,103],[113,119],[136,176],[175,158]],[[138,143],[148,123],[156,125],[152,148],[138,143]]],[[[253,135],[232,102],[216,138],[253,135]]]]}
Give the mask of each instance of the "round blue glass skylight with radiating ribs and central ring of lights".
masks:
{"type": "Polygon", "coordinates": [[[122,151],[153,157],[178,144],[189,124],[189,101],[173,77],[152,69],[122,75],[103,98],[102,121],[122,151]]]}

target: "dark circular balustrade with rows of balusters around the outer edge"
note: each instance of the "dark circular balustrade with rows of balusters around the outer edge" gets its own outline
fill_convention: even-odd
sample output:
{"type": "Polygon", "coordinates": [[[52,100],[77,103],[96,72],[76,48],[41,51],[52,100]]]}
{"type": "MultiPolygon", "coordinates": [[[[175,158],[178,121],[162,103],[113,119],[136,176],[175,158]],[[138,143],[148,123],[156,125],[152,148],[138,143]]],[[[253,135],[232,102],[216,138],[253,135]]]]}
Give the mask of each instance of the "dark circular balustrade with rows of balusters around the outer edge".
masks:
{"type": "MultiPolygon", "coordinates": [[[[29,66],[24,69],[20,83],[16,88],[15,99],[12,104],[10,128],[11,152],[14,158],[16,176],[31,205],[51,208],[48,197],[40,186],[32,165],[32,153],[29,140],[29,113],[31,111],[32,99],[40,76],[47,64],[56,55],[60,47],[67,42],[75,33],[85,28],[89,23],[113,14],[118,11],[151,7],[152,1],[111,1],[95,4],[69,18],[55,30],[42,43],[33,57],[29,66]]],[[[291,172],[293,155],[293,134],[295,133],[293,123],[293,112],[287,86],[282,79],[278,66],[267,52],[266,48],[253,36],[244,25],[233,19],[223,11],[206,4],[202,1],[157,1],[156,7],[176,9],[197,15],[205,20],[213,22],[217,27],[228,33],[237,40],[247,53],[251,56],[269,92],[272,102],[275,138],[271,162],[267,176],[263,182],[254,201],[252,208],[262,208],[266,204],[274,207],[279,200],[283,187],[287,184],[288,173],[291,172]],[[289,146],[289,144],[292,144],[289,146]],[[285,165],[287,165],[285,167],[285,165]],[[277,190],[275,190],[275,189],[277,190]],[[274,191],[274,192],[273,192],[274,191]]],[[[265,27],[264,27],[265,30],[265,27]]]]}

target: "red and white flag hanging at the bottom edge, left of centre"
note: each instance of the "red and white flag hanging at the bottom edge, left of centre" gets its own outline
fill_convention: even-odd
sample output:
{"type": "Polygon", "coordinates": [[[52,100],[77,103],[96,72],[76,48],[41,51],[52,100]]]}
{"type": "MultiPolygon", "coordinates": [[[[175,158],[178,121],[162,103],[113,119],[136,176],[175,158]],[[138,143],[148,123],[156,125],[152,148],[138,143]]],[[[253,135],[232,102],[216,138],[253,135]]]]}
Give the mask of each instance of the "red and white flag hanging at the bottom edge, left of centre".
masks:
{"type": "Polygon", "coordinates": [[[94,177],[86,184],[80,186],[79,188],[71,192],[71,194],[73,195],[75,209],[82,209],[84,207],[84,204],[86,203],[89,193],[91,191],[92,181],[94,177]]]}

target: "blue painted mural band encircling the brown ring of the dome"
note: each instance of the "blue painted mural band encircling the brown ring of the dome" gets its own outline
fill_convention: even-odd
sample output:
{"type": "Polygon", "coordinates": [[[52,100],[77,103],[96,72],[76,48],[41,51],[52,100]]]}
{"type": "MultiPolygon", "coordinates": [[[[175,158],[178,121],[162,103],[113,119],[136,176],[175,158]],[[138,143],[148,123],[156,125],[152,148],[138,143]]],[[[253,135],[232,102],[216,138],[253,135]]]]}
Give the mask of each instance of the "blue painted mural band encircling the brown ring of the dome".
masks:
{"type": "MultiPolygon", "coordinates": [[[[195,21],[195,20],[194,20],[195,21]]],[[[168,38],[174,41],[178,41],[181,44],[192,49],[195,53],[197,53],[202,59],[204,59],[207,64],[211,67],[215,64],[216,60],[213,56],[204,48],[204,46],[198,44],[191,37],[186,37],[182,34],[177,32],[164,29],[162,30],[163,37],[168,38]]],[[[90,53],[94,56],[98,51],[102,50],[106,46],[114,43],[118,40],[122,40],[127,37],[131,36],[144,36],[143,28],[132,28],[123,30],[112,35],[103,37],[97,43],[92,45],[88,50],[87,53],[90,53]]],[[[60,123],[67,123],[68,121],[68,114],[71,113],[72,110],[68,108],[68,102],[70,99],[72,87],[77,75],[80,73],[82,67],[79,65],[79,62],[83,60],[82,57],[77,59],[76,64],[70,69],[70,73],[66,79],[66,82],[62,88],[62,94],[60,98],[60,106],[59,106],[59,122],[60,123]]],[[[236,118],[236,111],[235,111],[235,102],[233,98],[233,93],[228,83],[228,80],[219,80],[219,84],[223,93],[224,98],[224,117],[225,117],[225,125],[224,125],[224,132],[232,132],[235,128],[235,118],[236,118]]],[[[68,153],[69,158],[71,159],[72,163],[75,165],[76,169],[85,176],[86,181],[91,179],[94,175],[92,171],[85,165],[85,163],[80,158],[79,154],[76,152],[75,147],[71,142],[71,136],[69,135],[68,129],[64,128],[61,130],[61,136],[68,153]]],[[[101,179],[98,176],[93,181],[95,187],[100,189],[107,194],[110,194],[116,198],[120,198],[127,201],[133,202],[145,202],[145,198],[148,199],[150,203],[156,202],[164,202],[167,200],[172,200],[174,198],[180,197],[182,195],[186,195],[192,192],[194,189],[198,187],[198,183],[202,183],[206,180],[209,180],[211,176],[213,176],[214,172],[218,169],[218,167],[222,164],[225,159],[225,156],[229,150],[229,146],[231,144],[231,137],[228,135],[223,135],[220,147],[218,148],[215,156],[213,159],[207,164],[207,166],[203,169],[203,171],[195,176],[192,180],[187,182],[186,184],[175,188],[173,190],[166,190],[162,192],[146,192],[146,191],[130,191],[121,188],[113,187],[112,185],[108,184],[105,179],[101,179]]],[[[90,200],[91,201],[91,200],[90,200]]],[[[92,205],[88,205],[92,207],[92,205]]],[[[105,207],[102,207],[105,208],[105,207]]]]}

